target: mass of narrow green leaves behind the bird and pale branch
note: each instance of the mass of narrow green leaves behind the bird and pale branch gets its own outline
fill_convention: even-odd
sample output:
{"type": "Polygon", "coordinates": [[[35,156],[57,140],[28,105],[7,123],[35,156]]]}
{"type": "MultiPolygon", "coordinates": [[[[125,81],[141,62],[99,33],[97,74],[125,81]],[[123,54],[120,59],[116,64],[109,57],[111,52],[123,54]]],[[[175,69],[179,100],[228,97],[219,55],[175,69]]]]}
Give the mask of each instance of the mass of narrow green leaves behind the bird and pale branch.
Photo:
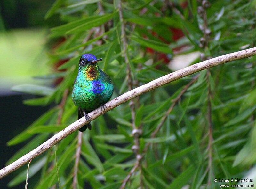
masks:
{"type": "MultiPolygon", "coordinates": [[[[78,60],[84,53],[103,58],[103,63],[99,64],[115,84],[113,98],[127,91],[127,65],[121,49],[122,24],[125,24],[129,66],[135,85],[142,85],[172,72],[158,57],[162,55],[160,53],[175,57],[177,50],[174,50],[177,47],[188,47],[178,55],[200,51],[207,57],[216,57],[255,46],[255,1],[212,0],[211,7],[207,9],[211,34],[205,49],[200,48],[204,21],[197,13],[200,3],[196,0],[188,1],[188,6],[184,6],[184,1],[175,1],[173,4],[168,4],[169,1],[124,1],[124,23],[119,19],[119,1],[56,0],[45,17],[58,14],[66,24],[52,28],[49,40],[59,37],[65,40],[50,52],[50,58],[51,62],[68,61],[59,67],[60,70],[65,69],[61,75],[58,72],[44,78],[64,79],[55,88],[31,85],[15,87],[16,91],[45,95],[26,100],[26,104],[60,104],[65,98],[64,91],[72,90],[78,60]],[[175,32],[171,28],[182,30],[185,36],[175,40],[175,32]]],[[[193,63],[199,61],[197,58],[193,63]]],[[[135,124],[143,131],[140,153],[143,154],[147,144],[151,144],[143,154],[141,169],[132,174],[126,188],[139,188],[140,185],[150,189],[178,189],[185,185],[193,189],[220,188],[218,183],[213,183],[213,178],[246,178],[251,169],[255,171],[252,168],[256,161],[255,61],[256,57],[251,57],[212,68],[209,79],[206,70],[198,73],[197,81],[178,100],[154,138],[151,137],[152,133],[193,76],[137,98],[135,124]],[[208,87],[211,94],[208,94],[208,87]],[[208,147],[209,95],[213,124],[212,155],[208,147]],[[209,166],[209,158],[212,158],[212,166],[209,166]]],[[[69,93],[63,106],[52,108],[8,142],[8,145],[15,145],[31,140],[8,163],[28,153],[76,118],[77,107],[69,93]],[[62,109],[60,124],[58,115],[62,109]]],[[[136,156],[131,150],[134,141],[129,103],[93,120],[92,126],[91,131],[87,130],[83,134],[77,188],[119,188],[136,163],[136,156]]],[[[76,136],[77,132],[71,134],[56,149],[58,175],[63,189],[72,188],[76,136]]],[[[10,186],[25,181],[25,167],[23,169],[9,183],[10,186]]],[[[54,185],[58,187],[55,149],[49,149],[32,161],[29,177],[33,175],[37,179],[35,189],[48,189],[54,185]]]]}

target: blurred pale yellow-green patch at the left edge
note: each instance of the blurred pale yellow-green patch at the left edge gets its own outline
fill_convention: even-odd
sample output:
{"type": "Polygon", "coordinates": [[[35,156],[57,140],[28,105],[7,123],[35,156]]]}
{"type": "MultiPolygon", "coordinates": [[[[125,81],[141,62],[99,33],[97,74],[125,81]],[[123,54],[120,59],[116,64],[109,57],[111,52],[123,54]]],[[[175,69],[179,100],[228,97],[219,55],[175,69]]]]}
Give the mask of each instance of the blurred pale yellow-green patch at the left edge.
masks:
{"type": "MultiPolygon", "coordinates": [[[[33,76],[47,74],[44,28],[10,29],[0,34],[0,86],[9,90],[15,84],[33,83],[33,76]]],[[[37,81],[39,82],[39,81],[37,81]]]]}

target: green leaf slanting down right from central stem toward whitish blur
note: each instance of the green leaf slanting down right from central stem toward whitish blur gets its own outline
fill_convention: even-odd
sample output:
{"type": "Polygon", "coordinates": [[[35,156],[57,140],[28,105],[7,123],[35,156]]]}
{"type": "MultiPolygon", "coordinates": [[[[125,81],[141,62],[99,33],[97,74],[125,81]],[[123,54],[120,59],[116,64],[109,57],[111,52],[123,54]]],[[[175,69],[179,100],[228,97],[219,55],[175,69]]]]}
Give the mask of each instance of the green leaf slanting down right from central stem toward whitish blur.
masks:
{"type": "Polygon", "coordinates": [[[167,44],[160,43],[160,42],[153,41],[153,40],[146,40],[142,37],[135,36],[135,35],[133,35],[131,37],[131,39],[140,43],[140,45],[142,45],[142,46],[153,48],[156,51],[159,51],[162,53],[172,54],[172,49],[167,44]]]}

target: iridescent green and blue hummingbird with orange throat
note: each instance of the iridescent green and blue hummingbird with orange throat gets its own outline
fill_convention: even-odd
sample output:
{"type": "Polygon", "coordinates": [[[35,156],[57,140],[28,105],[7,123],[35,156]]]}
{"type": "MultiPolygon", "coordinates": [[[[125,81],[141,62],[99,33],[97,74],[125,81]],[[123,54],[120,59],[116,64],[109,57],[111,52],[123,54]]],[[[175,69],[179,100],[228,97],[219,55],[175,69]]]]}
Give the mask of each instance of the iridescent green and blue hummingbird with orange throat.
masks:
{"type": "MultiPolygon", "coordinates": [[[[99,61],[102,58],[97,59],[92,54],[84,54],[79,60],[78,75],[71,95],[74,104],[78,106],[78,119],[84,116],[87,121],[91,121],[88,113],[98,107],[105,111],[105,103],[113,94],[114,85],[110,77],[99,68],[99,61]]],[[[91,123],[84,125],[79,131],[83,132],[86,128],[91,130],[91,123]]]]}

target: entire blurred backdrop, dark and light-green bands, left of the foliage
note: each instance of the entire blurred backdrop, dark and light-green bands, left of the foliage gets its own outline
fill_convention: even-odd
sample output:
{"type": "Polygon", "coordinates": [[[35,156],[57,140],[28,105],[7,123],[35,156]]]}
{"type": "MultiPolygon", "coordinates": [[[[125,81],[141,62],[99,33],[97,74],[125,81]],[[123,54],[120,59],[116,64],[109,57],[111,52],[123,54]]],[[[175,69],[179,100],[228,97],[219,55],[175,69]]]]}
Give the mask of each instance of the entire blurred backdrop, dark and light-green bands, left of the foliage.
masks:
{"type": "MultiPolygon", "coordinates": [[[[44,15],[54,1],[1,0],[0,1],[0,167],[20,149],[23,144],[7,147],[6,142],[24,130],[49,107],[31,107],[22,104],[34,95],[11,91],[12,86],[23,83],[40,84],[34,76],[45,75],[52,69],[46,51],[47,26],[44,15]],[[6,129],[8,127],[8,129],[6,129]]],[[[10,178],[9,178],[10,179],[10,178]]],[[[6,189],[7,178],[0,180],[0,188],[6,189]]],[[[14,187],[20,188],[21,185],[14,187]]],[[[23,185],[22,185],[23,188],[23,185]]]]}

